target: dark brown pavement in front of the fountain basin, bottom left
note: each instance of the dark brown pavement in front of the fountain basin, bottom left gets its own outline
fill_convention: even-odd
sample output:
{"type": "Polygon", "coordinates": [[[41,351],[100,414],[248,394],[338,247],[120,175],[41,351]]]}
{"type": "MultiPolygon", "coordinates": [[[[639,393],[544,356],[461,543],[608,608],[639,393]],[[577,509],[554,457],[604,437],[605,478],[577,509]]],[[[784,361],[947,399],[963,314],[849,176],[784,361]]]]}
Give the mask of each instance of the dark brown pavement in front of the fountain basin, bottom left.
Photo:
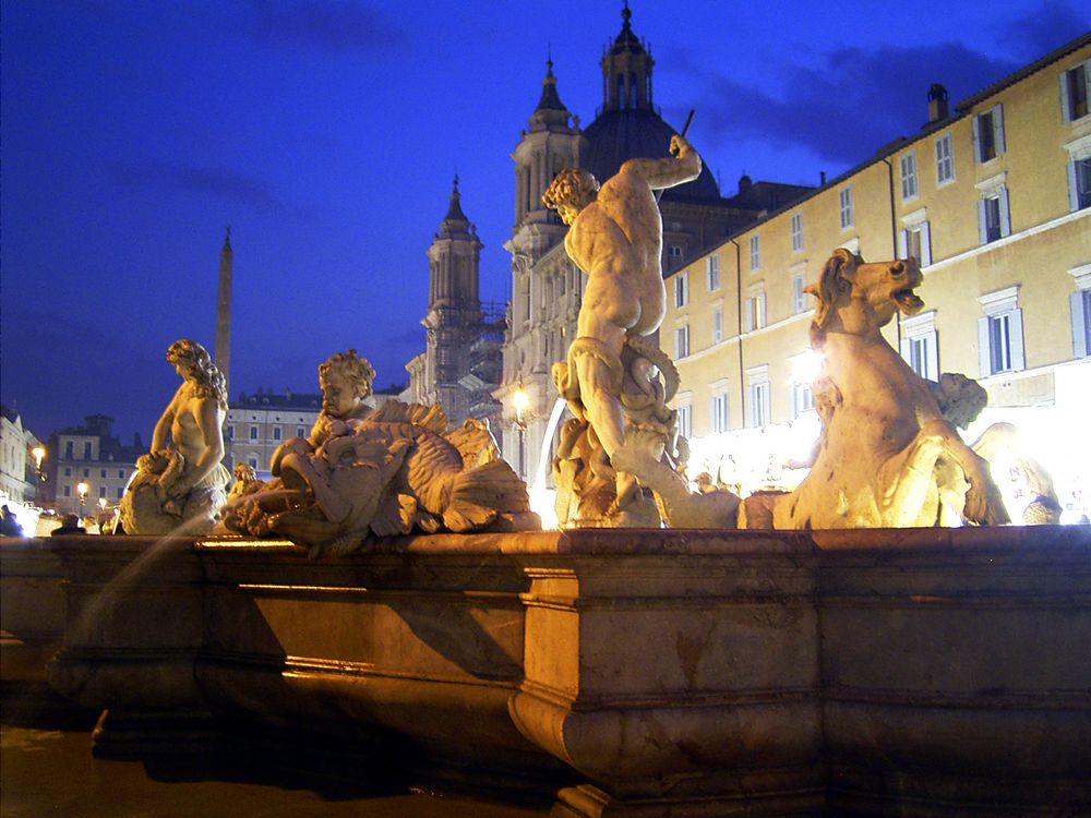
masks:
{"type": "MultiPolygon", "coordinates": [[[[10,691],[9,691],[10,693],[10,691]]],[[[94,714],[43,710],[5,693],[0,712],[2,818],[543,818],[544,813],[437,793],[286,777],[236,759],[119,761],[92,755],[94,714]]]]}

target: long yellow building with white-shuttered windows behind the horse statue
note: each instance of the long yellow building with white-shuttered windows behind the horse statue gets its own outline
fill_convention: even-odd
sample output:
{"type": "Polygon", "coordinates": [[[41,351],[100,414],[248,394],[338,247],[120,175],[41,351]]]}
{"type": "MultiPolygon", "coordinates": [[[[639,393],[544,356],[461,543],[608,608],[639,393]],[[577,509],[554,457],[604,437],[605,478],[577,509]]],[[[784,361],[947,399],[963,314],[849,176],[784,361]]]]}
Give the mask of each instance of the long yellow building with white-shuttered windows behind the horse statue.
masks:
{"type": "Polygon", "coordinates": [[[891,323],[890,342],[923,376],[976,378],[990,409],[969,435],[1016,422],[1062,504],[1086,509],[1089,86],[1091,34],[950,112],[933,86],[919,133],[668,276],[660,344],[681,373],[674,405],[694,467],[776,481],[784,452],[805,455],[817,422],[803,287],[847,246],[867,261],[918,258],[925,310],[891,323]]]}

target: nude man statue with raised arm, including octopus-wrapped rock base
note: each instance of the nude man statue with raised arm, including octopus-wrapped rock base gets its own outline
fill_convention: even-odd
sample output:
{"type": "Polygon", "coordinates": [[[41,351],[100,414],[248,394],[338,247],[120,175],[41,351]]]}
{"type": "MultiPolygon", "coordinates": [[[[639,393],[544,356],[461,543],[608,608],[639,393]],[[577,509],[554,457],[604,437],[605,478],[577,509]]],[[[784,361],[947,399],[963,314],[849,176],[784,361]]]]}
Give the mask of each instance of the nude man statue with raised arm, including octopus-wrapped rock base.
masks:
{"type": "Polygon", "coordinates": [[[674,454],[667,401],[678,373],[648,340],[667,309],[655,191],[696,179],[702,165],[682,136],[671,137],[670,153],[630,159],[601,188],[586,170],[565,169],[542,195],[568,225],[565,250],[588,276],[577,336],[553,368],[558,392],[575,416],[562,428],[554,461],[562,526],[659,525],[638,476],[612,464],[626,444],[648,461],[674,454]]]}

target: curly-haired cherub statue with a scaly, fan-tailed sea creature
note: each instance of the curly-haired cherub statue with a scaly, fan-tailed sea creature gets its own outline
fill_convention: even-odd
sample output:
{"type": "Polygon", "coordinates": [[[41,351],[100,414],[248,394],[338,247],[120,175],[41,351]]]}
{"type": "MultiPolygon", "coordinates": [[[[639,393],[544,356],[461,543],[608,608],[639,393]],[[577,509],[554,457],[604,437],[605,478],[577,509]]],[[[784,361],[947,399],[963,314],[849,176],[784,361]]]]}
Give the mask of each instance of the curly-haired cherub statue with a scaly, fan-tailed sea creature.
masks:
{"type": "Polygon", "coordinates": [[[415,531],[540,527],[487,424],[448,430],[439,405],[369,411],[372,377],[355,350],[319,368],[323,404],[310,436],[274,453],[274,479],[229,503],[219,533],[279,536],[334,555],[415,531]]]}

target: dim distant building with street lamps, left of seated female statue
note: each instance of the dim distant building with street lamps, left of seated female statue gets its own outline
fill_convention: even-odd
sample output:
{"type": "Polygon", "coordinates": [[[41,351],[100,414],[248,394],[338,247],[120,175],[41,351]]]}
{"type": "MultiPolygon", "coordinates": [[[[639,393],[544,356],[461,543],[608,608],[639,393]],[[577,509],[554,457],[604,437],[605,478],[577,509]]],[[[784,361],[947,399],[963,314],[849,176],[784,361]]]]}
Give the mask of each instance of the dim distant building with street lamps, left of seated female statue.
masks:
{"type": "Polygon", "coordinates": [[[82,426],[62,429],[49,436],[44,465],[47,503],[58,513],[77,513],[82,503],[84,512],[93,514],[99,506],[112,508],[121,500],[136,458],[147,448],[140,435],[133,436],[131,446],[123,445],[112,435],[112,418],[89,414],[82,426]],[[82,500],[81,484],[86,486],[82,500]]]}

